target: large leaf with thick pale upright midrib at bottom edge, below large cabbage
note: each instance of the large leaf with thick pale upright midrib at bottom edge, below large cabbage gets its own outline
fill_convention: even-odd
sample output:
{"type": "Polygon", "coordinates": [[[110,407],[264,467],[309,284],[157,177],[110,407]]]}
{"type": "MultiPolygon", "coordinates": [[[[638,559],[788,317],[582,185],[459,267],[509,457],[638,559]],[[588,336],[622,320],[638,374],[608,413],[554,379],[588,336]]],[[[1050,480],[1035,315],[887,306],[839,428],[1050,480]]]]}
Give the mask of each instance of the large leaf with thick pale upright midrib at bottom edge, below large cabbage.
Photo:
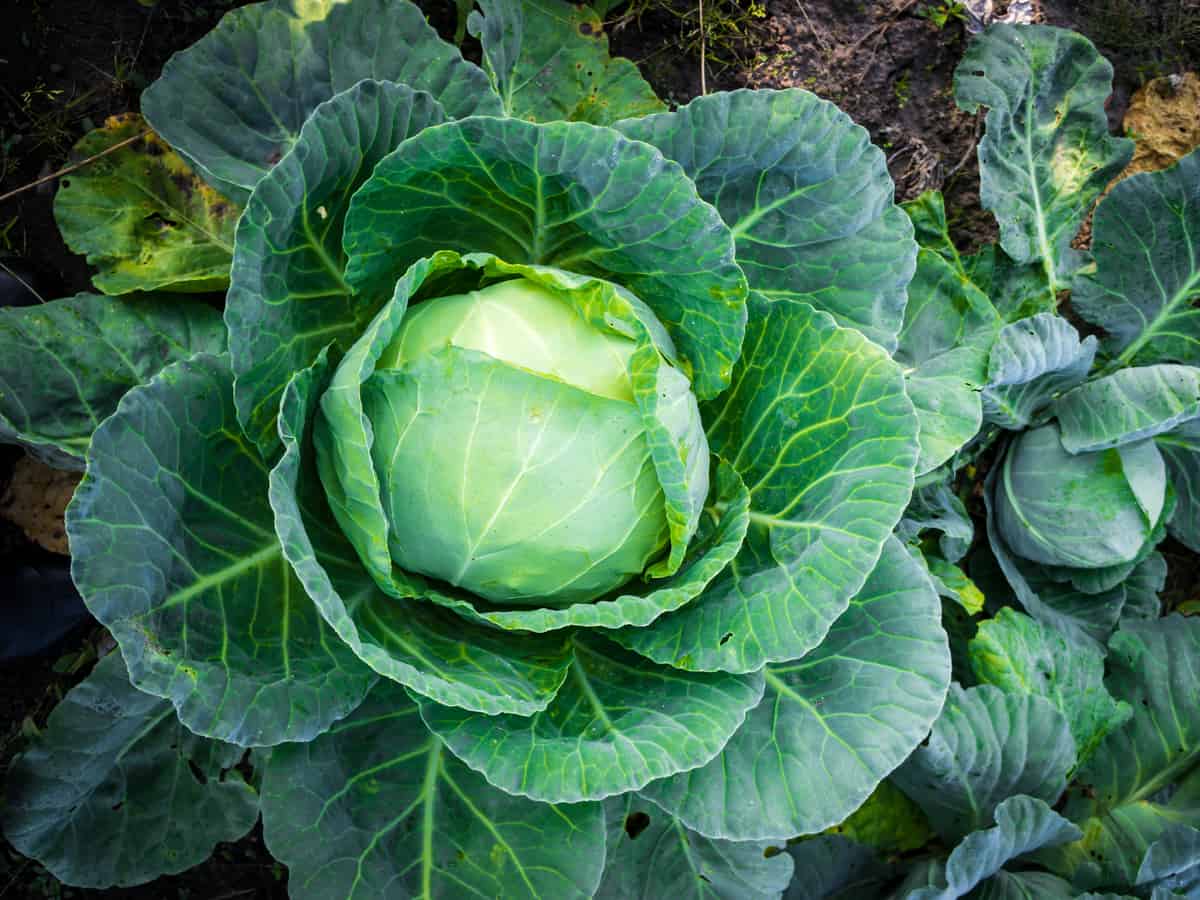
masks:
{"type": "Polygon", "coordinates": [[[552,806],[497,791],[389,682],[316,740],[272,751],[263,835],[296,900],[582,900],[604,869],[600,804],[552,806]]]}

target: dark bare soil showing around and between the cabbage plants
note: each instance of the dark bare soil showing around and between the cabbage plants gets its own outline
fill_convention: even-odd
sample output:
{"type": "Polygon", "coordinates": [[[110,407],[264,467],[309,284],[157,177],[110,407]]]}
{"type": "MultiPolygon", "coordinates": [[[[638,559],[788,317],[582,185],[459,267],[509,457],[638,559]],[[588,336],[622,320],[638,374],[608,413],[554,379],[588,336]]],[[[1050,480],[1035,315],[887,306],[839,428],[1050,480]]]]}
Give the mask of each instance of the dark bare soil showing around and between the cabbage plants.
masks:
{"type": "MultiPolygon", "coordinates": [[[[241,0],[8,0],[0,29],[0,194],[48,175],[68,161],[71,145],[107,115],[137,109],[140,90],[178,49],[205,34],[241,0]]],[[[431,20],[452,36],[454,4],[421,0],[431,20]]],[[[1146,79],[1200,68],[1196,0],[1043,0],[1044,20],[1091,37],[1112,60],[1114,127],[1130,94],[1146,79]],[[1192,18],[1189,18],[1189,16],[1192,18]],[[1150,40],[1146,36],[1152,36],[1150,40]]],[[[683,103],[707,90],[809,89],[838,103],[887,152],[898,199],[940,188],[961,247],[992,240],[979,208],[974,144],[979,122],[953,98],[953,71],[965,23],[934,14],[942,0],[707,0],[703,78],[694,4],[635,0],[610,13],[614,54],[638,62],[665,100],[683,103]],[[632,12],[630,12],[632,11],[632,12]],[[714,18],[715,17],[715,18],[714,18]]],[[[1003,6],[1003,4],[1000,4],[1003,6]]],[[[478,59],[478,48],[466,48],[478,59]]],[[[44,298],[90,287],[84,260],[62,244],[53,218],[53,181],[0,203],[0,262],[19,258],[44,298]]],[[[30,280],[28,276],[25,280],[30,280]]],[[[18,451],[0,448],[0,494],[18,451]]],[[[1166,599],[1200,601],[1200,558],[1175,542],[1166,599]]],[[[47,551],[0,521],[0,571],[44,560],[47,551]]],[[[19,599],[0,598],[0,602],[19,599]]],[[[24,736],[44,725],[61,695],[85,674],[103,629],[83,626],[53,652],[0,667],[0,780],[24,736]]],[[[17,898],[283,898],[286,872],[266,853],[260,830],[221,845],[212,859],[150,886],[108,892],[65,888],[0,840],[0,900],[17,898]]]]}

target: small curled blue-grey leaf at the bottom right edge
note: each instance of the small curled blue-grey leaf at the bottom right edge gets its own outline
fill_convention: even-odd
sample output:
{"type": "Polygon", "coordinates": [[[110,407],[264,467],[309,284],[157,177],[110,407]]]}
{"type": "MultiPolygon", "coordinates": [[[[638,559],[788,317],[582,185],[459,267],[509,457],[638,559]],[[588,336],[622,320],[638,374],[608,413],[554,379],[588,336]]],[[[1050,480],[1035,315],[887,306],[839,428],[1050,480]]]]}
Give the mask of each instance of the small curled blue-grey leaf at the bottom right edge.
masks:
{"type": "Polygon", "coordinates": [[[968,834],[937,865],[930,887],[904,894],[905,900],[955,900],[997,874],[1006,863],[1042,847],[1066,844],[1082,833],[1034,797],[1009,797],[996,806],[992,828],[968,834]]]}

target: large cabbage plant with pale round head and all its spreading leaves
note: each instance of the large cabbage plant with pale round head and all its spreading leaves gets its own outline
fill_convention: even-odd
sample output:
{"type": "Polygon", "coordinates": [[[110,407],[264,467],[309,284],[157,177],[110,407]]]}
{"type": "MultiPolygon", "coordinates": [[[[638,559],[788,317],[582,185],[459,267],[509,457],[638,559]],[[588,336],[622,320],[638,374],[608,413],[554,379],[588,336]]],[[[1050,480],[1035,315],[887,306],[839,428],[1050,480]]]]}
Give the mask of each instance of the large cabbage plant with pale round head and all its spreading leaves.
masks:
{"type": "Polygon", "coordinates": [[[481,67],[406,0],[230,12],[60,188],[114,296],[6,313],[0,434],[84,469],[119,646],[8,778],[64,882],[260,815],[296,898],[778,896],[942,708],[883,154],[480,6],[481,67]]]}

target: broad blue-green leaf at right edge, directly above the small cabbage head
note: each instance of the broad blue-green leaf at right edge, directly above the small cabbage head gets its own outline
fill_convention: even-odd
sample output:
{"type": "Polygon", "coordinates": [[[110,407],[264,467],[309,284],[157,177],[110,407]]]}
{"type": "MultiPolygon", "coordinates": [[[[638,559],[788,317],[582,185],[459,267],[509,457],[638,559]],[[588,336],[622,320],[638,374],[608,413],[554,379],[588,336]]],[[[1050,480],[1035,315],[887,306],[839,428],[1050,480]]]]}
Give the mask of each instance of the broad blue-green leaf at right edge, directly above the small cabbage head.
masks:
{"type": "Polygon", "coordinates": [[[1126,179],[1092,221],[1096,271],[1072,306],[1109,332],[1114,365],[1200,365],[1200,152],[1126,179]]]}

